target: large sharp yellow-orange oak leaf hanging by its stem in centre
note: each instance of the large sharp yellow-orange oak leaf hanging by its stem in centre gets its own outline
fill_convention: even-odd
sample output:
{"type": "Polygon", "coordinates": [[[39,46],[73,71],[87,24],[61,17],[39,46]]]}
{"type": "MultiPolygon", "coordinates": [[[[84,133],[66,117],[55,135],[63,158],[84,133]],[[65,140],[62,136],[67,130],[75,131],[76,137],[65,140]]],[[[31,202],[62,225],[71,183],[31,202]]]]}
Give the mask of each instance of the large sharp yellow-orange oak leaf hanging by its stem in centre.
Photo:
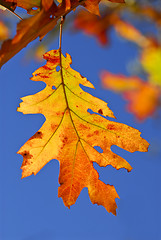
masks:
{"type": "Polygon", "coordinates": [[[24,114],[41,113],[46,118],[38,132],[18,151],[23,156],[22,178],[37,174],[49,161],[57,159],[58,196],[65,206],[74,204],[81,190],[87,187],[92,203],[116,214],[118,194],[113,186],[99,180],[93,162],[130,171],[130,164],[113,153],[111,146],[144,152],[149,144],[138,130],[102,117],[114,118],[114,115],[106,102],[82,90],[80,84],[94,87],[70,67],[69,54],[64,57],[59,50],[52,50],[44,58],[46,65],[36,70],[31,80],[43,81],[46,87],[35,95],[23,97],[18,108],[24,114]],[[103,152],[98,152],[95,146],[100,146],[103,152]]]}

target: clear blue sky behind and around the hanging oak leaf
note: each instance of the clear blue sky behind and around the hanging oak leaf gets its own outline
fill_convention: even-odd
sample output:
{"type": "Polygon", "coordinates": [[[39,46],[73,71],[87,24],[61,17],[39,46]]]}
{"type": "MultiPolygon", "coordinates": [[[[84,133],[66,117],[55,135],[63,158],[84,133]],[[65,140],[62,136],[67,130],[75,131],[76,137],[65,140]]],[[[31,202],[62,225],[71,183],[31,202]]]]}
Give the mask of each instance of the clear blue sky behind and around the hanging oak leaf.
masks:
{"type": "MultiPolygon", "coordinates": [[[[107,101],[117,121],[139,129],[151,143],[148,153],[113,147],[132,165],[130,173],[94,164],[100,179],[113,184],[120,196],[117,216],[93,205],[87,189],[70,210],[66,208],[57,196],[59,164],[55,160],[36,176],[21,180],[22,156],[16,152],[44,122],[40,114],[16,112],[20,97],[44,87],[29,80],[43,63],[24,64],[23,50],[0,71],[0,240],[161,240],[161,123],[151,118],[138,124],[125,111],[120,96],[101,88],[102,69],[127,74],[127,61],[137,56],[133,44],[120,41],[114,33],[111,38],[110,48],[101,48],[93,38],[65,32],[62,47],[63,53],[72,56],[72,67],[95,85],[90,93],[107,101]]],[[[50,50],[58,48],[57,42],[50,50]]]]}

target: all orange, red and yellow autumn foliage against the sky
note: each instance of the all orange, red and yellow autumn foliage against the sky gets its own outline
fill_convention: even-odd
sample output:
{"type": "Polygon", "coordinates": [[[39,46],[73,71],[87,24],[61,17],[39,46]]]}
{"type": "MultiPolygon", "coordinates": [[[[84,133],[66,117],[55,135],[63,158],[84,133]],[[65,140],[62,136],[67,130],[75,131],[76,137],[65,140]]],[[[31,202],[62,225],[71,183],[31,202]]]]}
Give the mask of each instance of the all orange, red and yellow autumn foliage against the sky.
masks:
{"type": "MultiPolygon", "coordinates": [[[[22,98],[18,108],[24,114],[41,113],[46,117],[41,129],[18,152],[24,158],[22,177],[36,174],[50,160],[57,159],[60,162],[58,196],[63,198],[66,206],[74,204],[81,190],[87,187],[92,203],[103,205],[107,211],[116,214],[115,198],[118,194],[113,186],[99,180],[93,162],[130,171],[129,163],[113,153],[111,146],[117,145],[130,152],[147,151],[148,143],[140,137],[138,130],[108,120],[106,117],[114,118],[114,115],[107,104],[81,89],[80,84],[91,88],[93,85],[70,67],[70,55],[62,55],[62,24],[64,20],[68,21],[66,16],[71,11],[82,5],[88,11],[76,12],[75,29],[96,37],[101,45],[110,44],[109,33],[115,29],[120,37],[138,46],[138,76],[131,74],[125,77],[104,71],[101,79],[105,88],[123,94],[129,101],[129,111],[136,118],[145,120],[160,107],[159,31],[153,36],[148,35],[130,21],[132,16],[137,15],[141,21],[150,19],[159,29],[161,11],[149,1],[125,4],[124,0],[106,0],[101,11],[99,3],[100,0],[0,0],[2,10],[7,9],[21,19],[16,35],[6,40],[9,28],[5,17],[0,18],[0,41],[5,40],[0,50],[0,67],[37,37],[42,40],[50,32],[48,35],[52,39],[51,32],[57,29],[60,20],[59,49],[44,54],[47,64],[36,70],[32,77],[33,81],[45,82],[46,87],[35,95],[22,98]],[[17,15],[17,8],[27,11],[25,19],[17,15]],[[140,78],[140,73],[146,75],[146,81],[140,78]],[[97,151],[98,146],[102,152],[97,151]]],[[[57,35],[57,32],[54,34],[57,35]]],[[[46,45],[42,44],[37,49],[42,52],[47,49],[46,45]]],[[[39,56],[38,51],[36,55],[39,56]]]]}

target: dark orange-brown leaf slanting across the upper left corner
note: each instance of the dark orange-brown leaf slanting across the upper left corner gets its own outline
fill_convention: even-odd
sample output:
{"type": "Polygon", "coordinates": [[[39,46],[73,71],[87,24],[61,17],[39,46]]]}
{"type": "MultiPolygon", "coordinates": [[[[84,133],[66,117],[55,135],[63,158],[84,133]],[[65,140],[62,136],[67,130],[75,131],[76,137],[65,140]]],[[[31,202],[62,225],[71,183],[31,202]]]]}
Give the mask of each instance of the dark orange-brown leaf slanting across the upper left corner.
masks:
{"type": "Polygon", "coordinates": [[[0,50],[0,68],[15,54],[26,47],[28,43],[37,37],[43,38],[56,25],[59,18],[51,19],[50,15],[50,11],[46,12],[42,9],[36,15],[22,20],[18,24],[16,36],[2,44],[0,50]]]}

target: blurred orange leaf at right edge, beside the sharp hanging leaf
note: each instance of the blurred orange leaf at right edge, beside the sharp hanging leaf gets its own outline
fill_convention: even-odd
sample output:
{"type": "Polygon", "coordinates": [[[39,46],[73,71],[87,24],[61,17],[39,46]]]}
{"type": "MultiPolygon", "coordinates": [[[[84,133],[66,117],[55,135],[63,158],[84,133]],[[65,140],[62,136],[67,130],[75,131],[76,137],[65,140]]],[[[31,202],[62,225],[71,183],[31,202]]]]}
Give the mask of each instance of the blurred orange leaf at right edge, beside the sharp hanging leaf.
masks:
{"type": "Polygon", "coordinates": [[[121,93],[129,101],[127,110],[138,120],[145,120],[159,106],[161,89],[138,77],[126,77],[104,71],[101,80],[104,88],[121,93]]]}

